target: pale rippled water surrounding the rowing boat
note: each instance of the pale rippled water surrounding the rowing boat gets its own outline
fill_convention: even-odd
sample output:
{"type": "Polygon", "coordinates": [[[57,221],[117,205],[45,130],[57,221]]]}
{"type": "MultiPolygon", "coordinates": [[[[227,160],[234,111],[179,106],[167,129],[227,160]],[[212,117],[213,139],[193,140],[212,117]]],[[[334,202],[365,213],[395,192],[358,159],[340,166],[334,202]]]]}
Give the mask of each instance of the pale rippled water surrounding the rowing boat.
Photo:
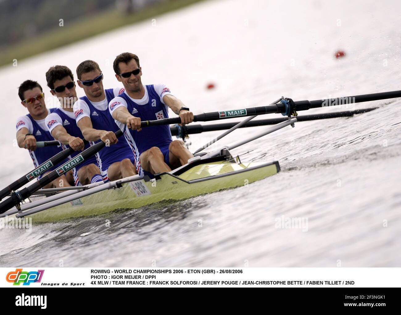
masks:
{"type": "MultiPolygon", "coordinates": [[[[115,55],[134,52],[142,81],[166,83],[195,114],[266,105],[282,95],[391,91],[401,73],[397,8],[396,1],[209,1],[153,26],[145,21],[4,67],[0,87],[10,106],[0,117],[2,183],[32,169],[28,153],[13,146],[14,121],[25,114],[17,87],[28,78],[45,87],[51,65],[75,69],[93,59],[105,87],[113,87],[115,55]],[[338,49],[343,59],[334,59],[338,49]],[[209,82],[216,88],[207,91],[209,82]]],[[[379,109],[299,122],[237,148],[235,154],[251,151],[243,161],[278,160],[282,167],[247,187],[41,224],[31,233],[0,230],[0,266],[400,266],[400,105],[357,104],[379,109]],[[307,229],[276,228],[283,216],[308,219],[307,229]]],[[[238,130],[214,147],[261,130],[238,130]]],[[[191,150],[218,134],[191,136],[191,150]]]]}

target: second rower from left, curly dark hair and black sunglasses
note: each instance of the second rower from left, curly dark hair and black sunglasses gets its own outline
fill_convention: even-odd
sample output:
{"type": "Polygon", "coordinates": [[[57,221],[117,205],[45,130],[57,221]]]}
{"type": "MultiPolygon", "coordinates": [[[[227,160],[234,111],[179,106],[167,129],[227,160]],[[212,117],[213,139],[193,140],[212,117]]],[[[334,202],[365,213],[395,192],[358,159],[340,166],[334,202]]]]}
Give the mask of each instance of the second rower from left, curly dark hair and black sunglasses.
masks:
{"type": "MultiPolygon", "coordinates": [[[[72,159],[81,150],[86,150],[90,144],[83,143],[83,135],[75,122],[73,105],[77,101],[74,76],[68,67],[56,65],[46,72],[47,86],[50,93],[57,96],[61,108],[57,108],[46,117],[46,126],[53,138],[62,145],[69,145],[75,150],[69,156],[72,159]]],[[[73,169],[75,186],[103,182],[95,156],[83,161],[73,169]]]]}

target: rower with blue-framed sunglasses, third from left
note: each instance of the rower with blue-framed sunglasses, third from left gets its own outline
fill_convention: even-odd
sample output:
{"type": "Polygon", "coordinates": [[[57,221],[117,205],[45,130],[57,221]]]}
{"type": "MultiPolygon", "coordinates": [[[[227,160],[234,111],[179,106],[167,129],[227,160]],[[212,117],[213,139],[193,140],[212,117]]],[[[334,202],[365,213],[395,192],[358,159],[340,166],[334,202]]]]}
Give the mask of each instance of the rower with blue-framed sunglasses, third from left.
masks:
{"type": "Polygon", "coordinates": [[[74,104],[75,121],[86,140],[93,145],[103,141],[106,146],[97,153],[97,161],[103,181],[115,181],[136,174],[134,154],[126,140],[119,140],[118,130],[107,106],[124,91],[123,88],[103,88],[103,74],[99,65],[92,60],[81,62],[77,67],[77,83],[85,91],[74,104]],[[111,145],[111,146],[110,146],[111,145]]]}

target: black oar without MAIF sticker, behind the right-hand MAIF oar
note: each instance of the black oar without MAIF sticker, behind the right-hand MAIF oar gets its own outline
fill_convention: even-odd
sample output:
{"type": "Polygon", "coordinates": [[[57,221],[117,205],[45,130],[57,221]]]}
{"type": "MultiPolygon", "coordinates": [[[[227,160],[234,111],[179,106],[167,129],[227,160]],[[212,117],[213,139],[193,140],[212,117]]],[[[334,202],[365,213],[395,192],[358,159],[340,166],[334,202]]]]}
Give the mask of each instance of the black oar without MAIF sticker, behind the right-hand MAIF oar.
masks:
{"type": "MultiPolygon", "coordinates": [[[[298,122],[305,122],[309,120],[319,120],[319,119],[327,119],[327,118],[338,118],[338,117],[350,117],[354,114],[361,114],[370,112],[375,110],[377,107],[364,108],[361,110],[352,110],[352,111],[344,111],[344,112],[334,112],[334,113],[325,113],[325,114],[313,114],[313,115],[301,115],[297,116],[298,122]]],[[[253,120],[251,122],[247,122],[240,126],[239,128],[248,128],[248,127],[257,127],[257,126],[267,126],[267,125],[275,125],[279,122],[284,122],[288,120],[288,118],[271,118],[271,119],[259,119],[253,120]]],[[[217,131],[217,130],[226,130],[236,126],[239,122],[223,122],[220,124],[213,125],[200,125],[200,124],[189,124],[184,126],[170,126],[170,131],[172,136],[182,137],[185,134],[199,134],[202,132],[208,131],[217,131]]]]}

